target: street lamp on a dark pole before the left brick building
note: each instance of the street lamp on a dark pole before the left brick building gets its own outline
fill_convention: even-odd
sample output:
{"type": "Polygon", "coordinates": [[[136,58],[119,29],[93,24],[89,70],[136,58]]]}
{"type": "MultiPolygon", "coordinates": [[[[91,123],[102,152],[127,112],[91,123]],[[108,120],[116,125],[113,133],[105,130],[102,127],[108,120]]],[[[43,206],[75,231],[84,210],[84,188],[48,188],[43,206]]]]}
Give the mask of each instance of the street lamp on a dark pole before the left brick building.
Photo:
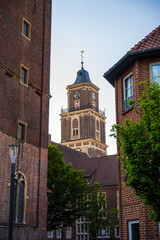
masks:
{"type": "Polygon", "coordinates": [[[9,156],[11,159],[11,184],[10,184],[10,203],[9,203],[9,223],[8,223],[8,240],[12,240],[12,226],[13,226],[13,204],[14,204],[14,175],[15,175],[15,161],[18,155],[18,146],[9,146],[9,156]]]}

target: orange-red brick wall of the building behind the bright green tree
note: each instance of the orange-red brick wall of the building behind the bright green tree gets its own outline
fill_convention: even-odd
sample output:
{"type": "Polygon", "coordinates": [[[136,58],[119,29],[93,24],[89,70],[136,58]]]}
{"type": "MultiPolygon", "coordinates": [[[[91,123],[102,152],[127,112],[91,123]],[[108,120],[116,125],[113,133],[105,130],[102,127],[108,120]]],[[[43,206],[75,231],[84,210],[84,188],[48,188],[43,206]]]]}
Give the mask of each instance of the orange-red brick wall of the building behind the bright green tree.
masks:
{"type": "MultiPolygon", "coordinates": [[[[132,108],[123,112],[123,78],[132,72],[133,96],[134,100],[138,100],[143,90],[143,87],[141,85],[139,86],[138,82],[149,82],[149,64],[158,61],[160,61],[160,58],[136,61],[115,81],[117,123],[122,124],[126,118],[133,119],[134,121],[139,120],[139,116],[132,108]]],[[[137,106],[138,105],[139,103],[137,102],[137,106]]],[[[148,211],[144,207],[143,201],[135,197],[133,191],[125,186],[124,171],[121,170],[120,164],[119,173],[121,239],[128,240],[128,221],[131,220],[139,220],[140,239],[159,239],[158,224],[154,224],[149,218],[148,211]]]]}

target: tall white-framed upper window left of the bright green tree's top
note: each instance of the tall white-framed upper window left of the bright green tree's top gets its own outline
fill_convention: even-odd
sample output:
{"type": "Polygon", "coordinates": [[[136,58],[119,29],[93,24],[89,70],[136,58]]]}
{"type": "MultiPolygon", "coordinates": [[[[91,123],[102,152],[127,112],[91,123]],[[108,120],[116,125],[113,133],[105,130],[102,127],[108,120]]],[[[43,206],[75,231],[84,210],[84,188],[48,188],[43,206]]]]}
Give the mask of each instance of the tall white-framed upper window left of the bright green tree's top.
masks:
{"type": "Polygon", "coordinates": [[[123,111],[126,111],[131,105],[128,105],[128,101],[133,100],[133,79],[132,74],[127,75],[123,79],[123,111]]]}

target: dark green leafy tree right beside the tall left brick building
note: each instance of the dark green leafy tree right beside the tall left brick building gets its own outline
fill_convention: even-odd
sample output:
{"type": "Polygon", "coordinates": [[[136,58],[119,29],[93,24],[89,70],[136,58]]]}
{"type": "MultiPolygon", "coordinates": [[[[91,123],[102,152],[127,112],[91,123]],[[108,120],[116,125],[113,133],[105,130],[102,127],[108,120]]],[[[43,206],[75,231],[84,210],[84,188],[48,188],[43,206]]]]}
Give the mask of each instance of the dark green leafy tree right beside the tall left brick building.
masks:
{"type": "Polygon", "coordinates": [[[71,226],[84,215],[87,183],[83,171],[66,165],[58,146],[48,147],[48,230],[71,226]]]}

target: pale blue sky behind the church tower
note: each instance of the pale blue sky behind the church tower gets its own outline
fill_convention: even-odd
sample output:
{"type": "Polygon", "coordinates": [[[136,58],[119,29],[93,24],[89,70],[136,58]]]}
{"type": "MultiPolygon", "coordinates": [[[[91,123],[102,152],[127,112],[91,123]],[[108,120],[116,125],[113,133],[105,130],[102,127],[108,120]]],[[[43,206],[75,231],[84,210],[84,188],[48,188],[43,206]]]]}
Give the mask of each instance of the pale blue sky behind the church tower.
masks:
{"type": "Polygon", "coordinates": [[[117,152],[110,137],[115,123],[114,88],[103,77],[136,43],[160,25],[160,0],[52,0],[49,133],[61,142],[61,107],[67,85],[84,68],[100,88],[99,108],[106,111],[108,155],[117,152]]]}

